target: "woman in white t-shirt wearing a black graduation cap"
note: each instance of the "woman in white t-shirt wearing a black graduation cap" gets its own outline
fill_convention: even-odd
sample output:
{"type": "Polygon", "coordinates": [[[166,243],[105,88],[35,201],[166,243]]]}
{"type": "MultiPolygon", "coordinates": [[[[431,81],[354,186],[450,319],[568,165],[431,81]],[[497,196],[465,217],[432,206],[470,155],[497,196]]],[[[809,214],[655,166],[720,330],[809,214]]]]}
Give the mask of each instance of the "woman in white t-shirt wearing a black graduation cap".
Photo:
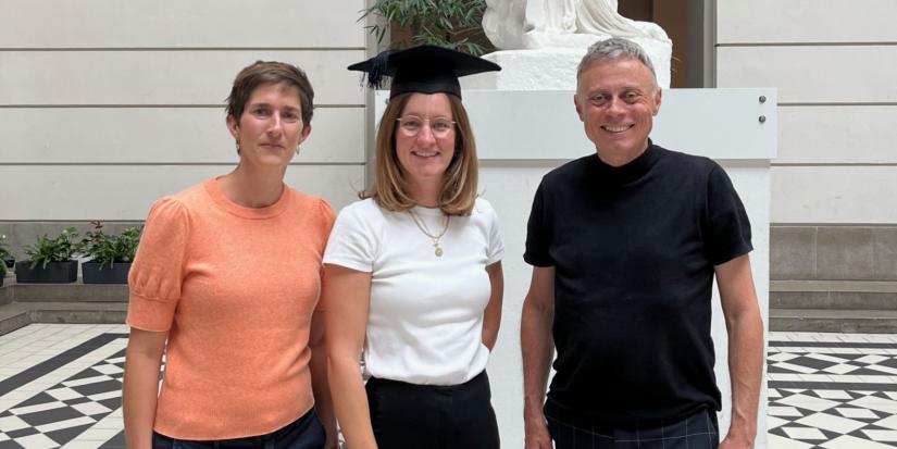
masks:
{"type": "Polygon", "coordinates": [[[352,449],[498,448],[485,369],[501,319],[504,248],[495,211],[476,197],[458,76],[499,67],[421,46],[349,68],[367,72],[373,86],[383,75],[393,84],[374,185],[339,213],[324,254],[342,433],[352,449]]]}

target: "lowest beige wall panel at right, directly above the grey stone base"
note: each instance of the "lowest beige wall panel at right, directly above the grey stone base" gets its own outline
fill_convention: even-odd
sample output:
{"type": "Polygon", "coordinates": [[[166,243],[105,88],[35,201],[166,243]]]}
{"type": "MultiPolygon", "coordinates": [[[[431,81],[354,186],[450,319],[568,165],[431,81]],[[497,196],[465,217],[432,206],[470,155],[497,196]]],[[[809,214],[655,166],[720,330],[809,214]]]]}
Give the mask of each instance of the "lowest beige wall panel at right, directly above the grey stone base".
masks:
{"type": "Polygon", "coordinates": [[[897,223],[897,166],[773,166],[772,223],[897,223]]]}

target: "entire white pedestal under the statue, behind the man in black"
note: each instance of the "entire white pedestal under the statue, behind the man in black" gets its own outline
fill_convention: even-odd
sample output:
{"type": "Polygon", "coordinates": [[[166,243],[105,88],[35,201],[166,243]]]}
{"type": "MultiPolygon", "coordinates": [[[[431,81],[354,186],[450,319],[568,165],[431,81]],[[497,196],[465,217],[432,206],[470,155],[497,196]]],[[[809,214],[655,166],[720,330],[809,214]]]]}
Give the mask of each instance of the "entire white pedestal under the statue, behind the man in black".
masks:
{"type": "MultiPolygon", "coordinates": [[[[585,137],[572,91],[469,90],[463,96],[481,159],[479,189],[498,213],[506,246],[501,330],[488,372],[502,446],[518,448],[523,447],[520,314],[532,274],[532,267],[523,262],[531,202],[541,176],[595,148],[585,137]]],[[[379,91],[375,98],[375,116],[379,117],[388,92],[379,91]]],[[[776,127],[774,89],[672,89],[663,92],[651,134],[664,148],[717,160],[732,178],[751,222],[751,269],[764,323],[769,312],[769,162],[776,154],[776,127]]],[[[731,413],[731,387],[727,335],[715,292],[712,332],[717,382],[723,394],[720,428],[724,435],[731,413]]],[[[762,388],[758,448],[767,447],[765,382],[762,388]]]]}

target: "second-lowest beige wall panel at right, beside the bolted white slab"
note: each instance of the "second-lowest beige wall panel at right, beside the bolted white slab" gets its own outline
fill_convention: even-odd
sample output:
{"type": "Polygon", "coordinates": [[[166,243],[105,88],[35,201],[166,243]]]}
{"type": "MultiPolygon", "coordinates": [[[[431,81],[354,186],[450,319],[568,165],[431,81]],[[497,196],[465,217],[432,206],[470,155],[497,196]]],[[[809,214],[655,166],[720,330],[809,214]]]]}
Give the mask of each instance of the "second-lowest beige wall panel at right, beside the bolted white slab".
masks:
{"type": "Polygon", "coordinates": [[[774,163],[897,163],[897,107],[781,107],[774,163]]]}

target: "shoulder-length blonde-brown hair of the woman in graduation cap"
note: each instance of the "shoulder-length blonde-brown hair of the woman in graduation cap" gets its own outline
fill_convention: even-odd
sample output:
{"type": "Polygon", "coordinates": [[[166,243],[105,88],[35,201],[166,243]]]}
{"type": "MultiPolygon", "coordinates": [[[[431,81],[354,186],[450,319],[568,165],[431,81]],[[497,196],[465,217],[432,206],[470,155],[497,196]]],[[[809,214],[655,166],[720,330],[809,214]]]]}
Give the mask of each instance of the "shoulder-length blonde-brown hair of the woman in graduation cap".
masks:
{"type": "MultiPolygon", "coordinates": [[[[401,163],[396,154],[396,120],[401,116],[412,95],[414,92],[402,93],[389,100],[377,128],[374,184],[359,195],[361,198],[373,198],[381,208],[394,212],[407,211],[415,205],[408,195],[401,163]]],[[[448,215],[470,215],[476,200],[476,145],[461,99],[453,95],[446,96],[456,122],[454,154],[446,169],[439,209],[448,215]]]]}

